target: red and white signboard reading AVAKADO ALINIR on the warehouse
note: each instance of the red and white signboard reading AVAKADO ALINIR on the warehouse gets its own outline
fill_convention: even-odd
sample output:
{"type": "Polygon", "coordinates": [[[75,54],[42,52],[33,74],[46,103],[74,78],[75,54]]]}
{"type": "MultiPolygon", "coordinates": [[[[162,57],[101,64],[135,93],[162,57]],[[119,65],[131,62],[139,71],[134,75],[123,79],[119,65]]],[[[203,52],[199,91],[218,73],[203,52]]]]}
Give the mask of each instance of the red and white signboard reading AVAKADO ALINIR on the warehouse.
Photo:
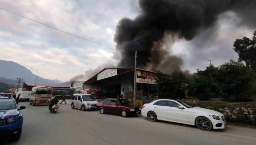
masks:
{"type": "Polygon", "coordinates": [[[145,70],[137,70],[137,83],[145,83],[145,84],[156,84],[156,73],[145,71],[145,70]]]}

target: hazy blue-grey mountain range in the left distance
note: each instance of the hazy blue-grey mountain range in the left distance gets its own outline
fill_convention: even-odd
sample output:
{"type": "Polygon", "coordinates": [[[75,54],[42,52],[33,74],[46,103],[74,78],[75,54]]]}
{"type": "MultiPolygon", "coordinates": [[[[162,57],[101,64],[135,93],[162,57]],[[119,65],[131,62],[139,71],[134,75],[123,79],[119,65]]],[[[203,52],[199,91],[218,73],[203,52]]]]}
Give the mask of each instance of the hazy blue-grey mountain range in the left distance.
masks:
{"type": "MultiPolygon", "coordinates": [[[[7,83],[10,85],[16,85],[16,78],[23,78],[22,81],[34,82],[36,80],[36,75],[33,74],[29,69],[21,66],[13,61],[0,60],[0,82],[7,83]]],[[[63,83],[60,80],[45,79],[37,76],[37,82],[40,83],[63,83]]],[[[23,82],[21,83],[21,86],[23,82]]]]}

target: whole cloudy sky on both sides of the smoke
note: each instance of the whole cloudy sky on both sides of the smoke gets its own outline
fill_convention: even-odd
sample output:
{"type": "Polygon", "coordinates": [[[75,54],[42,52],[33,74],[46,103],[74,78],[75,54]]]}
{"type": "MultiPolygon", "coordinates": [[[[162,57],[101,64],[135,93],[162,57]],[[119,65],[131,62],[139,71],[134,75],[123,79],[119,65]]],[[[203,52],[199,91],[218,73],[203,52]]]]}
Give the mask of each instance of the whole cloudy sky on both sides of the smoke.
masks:
{"type": "MultiPolygon", "coordinates": [[[[140,12],[137,0],[0,0],[0,3],[1,8],[110,48],[116,45],[113,37],[118,21],[123,17],[133,19],[140,12]]],[[[68,81],[103,64],[118,64],[112,58],[115,50],[2,9],[0,17],[0,59],[37,69],[41,77],[68,81]]],[[[214,28],[200,32],[192,41],[177,40],[170,44],[170,53],[182,56],[183,69],[190,72],[208,66],[209,59],[216,66],[229,59],[236,60],[233,42],[243,36],[252,38],[255,29],[240,23],[235,13],[226,12],[214,28]],[[209,36],[210,32],[213,35],[209,36]]]]}

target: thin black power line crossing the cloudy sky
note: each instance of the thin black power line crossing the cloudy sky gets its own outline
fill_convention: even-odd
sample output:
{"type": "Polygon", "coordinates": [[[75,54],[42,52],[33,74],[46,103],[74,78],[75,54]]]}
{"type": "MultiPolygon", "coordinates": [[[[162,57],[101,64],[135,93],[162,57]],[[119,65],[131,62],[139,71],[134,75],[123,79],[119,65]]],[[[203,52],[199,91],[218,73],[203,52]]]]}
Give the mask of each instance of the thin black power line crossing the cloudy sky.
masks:
{"type": "Polygon", "coordinates": [[[125,52],[122,52],[122,51],[119,51],[119,50],[113,49],[113,48],[111,48],[111,47],[107,47],[107,46],[101,45],[100,43],[93,42],[93,41],[88,40],[88,39],[84,39],[84,38],[82,38],[82,37],[79,37],[79,36],[73,35],[73,34],[71,34],[71,33],[68,33],[68,32],[66,32],[66,31],[62,31],[62,30],[60,30],[60,29],[54,28],[54,27],[52,27],[52,26],[46,25],[46,24],[44,24],[44,23],[38,22],[38,21],[33,20],[33,19],[30,19],[30,18],[28,18],[28,17],[22,16],[22,15],[20,15],[20,14],[18,14],[18,13],[15,13],[15,12],[9,11],[9,10],[7,10],[7,9],[1,8],[1,7],[0,7],[0,9],[5,10],[5,11],[8,11],[8,12],[11,12],[11,13],[13,13],[13,14],[16,14],[16,15],[18,15],[18,16],[20,16],[20,17],[23,17],[23,18],[29,19],[29,20],[31,20],[31,21],[37,22],[37,23],[42,24],[42,25],[44,25],[44,26],[50,27],[50,28],[52,28],[52,29],[55,29],[55,30],[58,30],[58,31],[64,32],[64,33],[66,33],[66,34],[68,34],[68,35],[72,35],[72,36],[74,36],[74,37],[77,37],[77,38],[80,38],[80,39],[83,39],[83,40],[89,41],[89,42],[91,42],[91,43],[94,43],[94,44],[97,44],[97,45],[100,45],[100,46],[106,47],[106,48],[108,48],[108,49],[112,49],[112,50],[115,50],[115,51],[121,52],[121,53],[123,53],[123,54],[129,55],[129,54],[125,53],[125,52]]]}

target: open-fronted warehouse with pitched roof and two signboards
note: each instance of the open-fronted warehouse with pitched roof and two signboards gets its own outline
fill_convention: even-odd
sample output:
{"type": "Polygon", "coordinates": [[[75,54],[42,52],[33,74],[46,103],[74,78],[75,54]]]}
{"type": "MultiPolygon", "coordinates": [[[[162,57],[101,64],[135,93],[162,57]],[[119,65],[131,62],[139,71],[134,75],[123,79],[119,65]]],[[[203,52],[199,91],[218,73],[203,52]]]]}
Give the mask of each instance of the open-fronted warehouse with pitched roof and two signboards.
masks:
{"type": "MultiPolygon", "coordinates": [[[[136,96],[153,94],[155,84],[156,72],[136,69],[136,96]]],[[[83,89],[88,88],[97,89],[102,94],[111,94],[112,97],[133,96],[134,68],[105,68],[83,83],[83,89]]]]}

